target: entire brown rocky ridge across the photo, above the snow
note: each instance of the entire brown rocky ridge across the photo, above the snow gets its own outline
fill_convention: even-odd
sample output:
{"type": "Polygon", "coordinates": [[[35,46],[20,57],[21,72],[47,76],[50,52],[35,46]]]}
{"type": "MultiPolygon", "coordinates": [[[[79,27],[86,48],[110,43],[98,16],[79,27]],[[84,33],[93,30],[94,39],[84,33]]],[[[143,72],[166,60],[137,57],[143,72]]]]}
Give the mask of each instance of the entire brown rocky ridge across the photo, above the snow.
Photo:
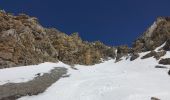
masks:
{"type": "Polygon", "coordinates": [[[140,52],[151,51],[142,57],[157,60],[170,49],[170,17],[159,17],[132,47],[109,47],[100,41],[83,41],[78,33],[67,35],[55,28],[44,28],[35,17],[14,16],[0,11],[0,68],[32,65],[42,62],[92,65],[101,59],[130,56],[133,61],[140,52]],[[157,47],[164,46],[158,51],[157,47]]]}

